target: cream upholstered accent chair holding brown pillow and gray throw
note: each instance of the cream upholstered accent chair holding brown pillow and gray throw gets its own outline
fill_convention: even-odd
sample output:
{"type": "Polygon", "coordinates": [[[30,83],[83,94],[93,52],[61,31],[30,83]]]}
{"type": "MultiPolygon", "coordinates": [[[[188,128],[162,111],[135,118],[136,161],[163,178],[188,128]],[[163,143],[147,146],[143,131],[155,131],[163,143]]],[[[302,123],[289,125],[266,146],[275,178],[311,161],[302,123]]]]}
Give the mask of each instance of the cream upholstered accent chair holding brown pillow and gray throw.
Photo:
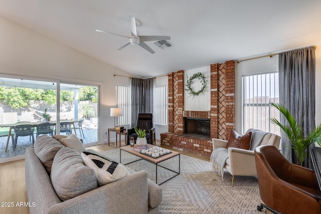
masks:
{"type": "MultiPolygon", "coordinates": [[[[263,137],[259,145],[273,145],[277,149],[279,149],[280,139],[281,137],[276,134],[267,133],[263,137]]],[[[214,149],[219,147],[225,148],[226,145],[227,145],[227,140],[212,138],[213,151],[214,149]]],[[[234,183],[234,175],[257,176],[254,150],[255,148],[251,148],[251,150],[233,148],[233,147],[228,148],[229,157],[226,160],[224,169],[226,169],[233,176],[232,186],[234,183]]]]}

